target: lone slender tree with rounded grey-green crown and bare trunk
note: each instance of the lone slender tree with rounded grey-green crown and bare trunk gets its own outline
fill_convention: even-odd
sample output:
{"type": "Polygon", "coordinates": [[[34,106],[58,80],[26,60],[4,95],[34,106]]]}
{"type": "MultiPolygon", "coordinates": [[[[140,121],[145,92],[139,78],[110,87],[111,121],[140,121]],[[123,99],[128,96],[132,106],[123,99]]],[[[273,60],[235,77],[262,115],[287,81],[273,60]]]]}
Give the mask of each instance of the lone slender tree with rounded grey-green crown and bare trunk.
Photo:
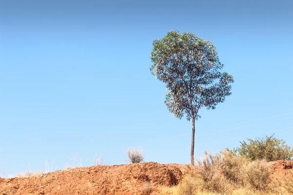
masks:
{"type": "Polygon", "coordinates": [[[215,46],[193,33],[170,31],[153,41],[151,73],[166,83],[165,104],[175,117],[192,119],[191,164],[194,165],[195,120],[201,107],[215,109],[231,95],[233,77],[220,72],[221,64],[215,46]]]}

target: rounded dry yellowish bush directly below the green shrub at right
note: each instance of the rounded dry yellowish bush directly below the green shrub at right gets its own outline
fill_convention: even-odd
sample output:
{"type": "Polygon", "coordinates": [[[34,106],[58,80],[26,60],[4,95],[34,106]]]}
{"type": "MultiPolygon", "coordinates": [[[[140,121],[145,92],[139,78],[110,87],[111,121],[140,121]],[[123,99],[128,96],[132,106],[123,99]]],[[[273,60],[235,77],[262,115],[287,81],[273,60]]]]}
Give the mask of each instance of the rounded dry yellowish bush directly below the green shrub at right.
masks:
{"type": "Polygon", "coordinates": [[[244,169],[245,179],[255,190],[266,191],[272,182],[271,167],[265,160],[250,162],[244,169]]]}

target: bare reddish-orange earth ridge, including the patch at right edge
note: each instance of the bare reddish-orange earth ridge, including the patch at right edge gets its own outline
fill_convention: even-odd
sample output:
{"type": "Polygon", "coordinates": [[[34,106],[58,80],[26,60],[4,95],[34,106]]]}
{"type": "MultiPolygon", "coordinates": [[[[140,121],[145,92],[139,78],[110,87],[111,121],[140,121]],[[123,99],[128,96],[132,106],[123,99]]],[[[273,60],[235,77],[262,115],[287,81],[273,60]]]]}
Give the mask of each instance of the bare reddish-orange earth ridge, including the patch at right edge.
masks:
{"type": "MultiPolygon", "coordinates": [[[[293,170],[293,161],[270,164],[273,176],[293,170]]],[[[156,162],[81,167],[41,176],[0,178],[0,195],[143,195],[144,186],[177,185],[187,172],[186,165],[156,162]]]]}

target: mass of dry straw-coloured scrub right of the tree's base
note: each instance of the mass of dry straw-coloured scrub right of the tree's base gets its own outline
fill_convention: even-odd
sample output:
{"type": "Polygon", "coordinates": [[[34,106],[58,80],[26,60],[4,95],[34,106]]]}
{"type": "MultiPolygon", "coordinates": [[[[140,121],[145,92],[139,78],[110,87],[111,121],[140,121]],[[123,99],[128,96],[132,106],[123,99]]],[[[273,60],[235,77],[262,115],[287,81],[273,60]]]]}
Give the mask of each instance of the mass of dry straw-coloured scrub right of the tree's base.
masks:
{"type": "MultiPolygon", "coordinates": [[[[272,183],[271,167],[265,160],[251,161],[229,151],[211,155],[205,152],[197,160],[200,167],[188,165],[189,174],[183,177],[176,192],[178,195],[193,194],[274,194],[277,186],[272,183]]],[[[293,189],[293,177],[282,183],[284,189],[293,189]]]]}

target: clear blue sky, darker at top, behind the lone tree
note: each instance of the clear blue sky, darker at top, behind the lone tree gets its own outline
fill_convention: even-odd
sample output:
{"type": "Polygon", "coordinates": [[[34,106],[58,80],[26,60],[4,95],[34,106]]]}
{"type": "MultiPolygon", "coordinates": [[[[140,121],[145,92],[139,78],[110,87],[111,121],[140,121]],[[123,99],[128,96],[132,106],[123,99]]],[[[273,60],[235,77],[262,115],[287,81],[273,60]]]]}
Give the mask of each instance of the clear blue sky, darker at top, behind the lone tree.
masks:
{"type": "Polygon", "coordinates": [[[293,145],[293,1],[0,0],[0,176],[146,161],[188,163],[191,122],[168,113],[153,39],[217,47],[232,95],[200,110],[195,156],[272,135],[293,145]],[[30,167],[30,168],[29,168],[30,167]]]}

